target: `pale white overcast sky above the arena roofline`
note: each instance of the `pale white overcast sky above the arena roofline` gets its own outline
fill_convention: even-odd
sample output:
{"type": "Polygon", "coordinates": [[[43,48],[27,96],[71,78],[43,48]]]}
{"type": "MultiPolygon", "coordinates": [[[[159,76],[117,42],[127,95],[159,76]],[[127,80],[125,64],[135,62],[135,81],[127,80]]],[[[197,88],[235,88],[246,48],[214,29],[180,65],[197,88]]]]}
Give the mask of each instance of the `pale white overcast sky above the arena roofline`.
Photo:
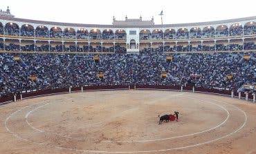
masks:
{"type": "Polygon", "coordinates": [[[0,8],[10,7],[12,15],[23,19],[67,23],[112,24],[117,20],[143,20],[158,15],[163,10],[163,24],[194,23],[256,16],[255,0],[1,0],[0,8]]]}

